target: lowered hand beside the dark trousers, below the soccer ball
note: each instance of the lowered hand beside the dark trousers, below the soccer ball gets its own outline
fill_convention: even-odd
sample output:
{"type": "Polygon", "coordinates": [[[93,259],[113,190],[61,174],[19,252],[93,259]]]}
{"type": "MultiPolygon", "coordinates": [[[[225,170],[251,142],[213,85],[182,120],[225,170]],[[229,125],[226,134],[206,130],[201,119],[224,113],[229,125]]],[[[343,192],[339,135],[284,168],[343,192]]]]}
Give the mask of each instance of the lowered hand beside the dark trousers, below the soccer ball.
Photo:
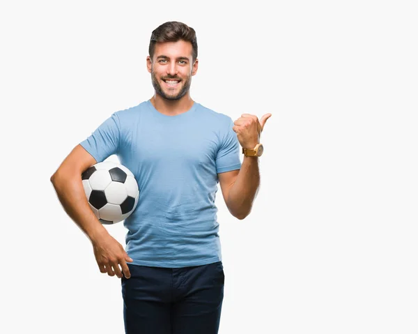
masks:
{"type": "Polygon", "coordinates": [[[125,278],[130,278],[126,261],[132,262],[134,260],[127,255],[122,245],[113,236],[108,234],[100,238],[100,241],[95,241],[92,244],[100,273],[107,273],[109,276],[116,275],[118,278],[125,275],[125,278]],[[119,265],[121,265],[122,271],[119,265]]]}

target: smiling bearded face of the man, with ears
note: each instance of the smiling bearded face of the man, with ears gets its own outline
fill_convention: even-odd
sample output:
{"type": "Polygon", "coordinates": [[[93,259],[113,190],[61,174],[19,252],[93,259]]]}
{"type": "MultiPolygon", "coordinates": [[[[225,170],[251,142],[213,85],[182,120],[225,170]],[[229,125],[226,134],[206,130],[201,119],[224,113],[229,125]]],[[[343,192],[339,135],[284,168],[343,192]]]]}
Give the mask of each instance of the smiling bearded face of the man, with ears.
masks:
{"type": "Polygon", "coordinates": [[[167,100],[179,100],[189,91],[198,61],[192,63],[192,43],[156,43],[153,59],[147,57],[155,92],[167,100]]]}

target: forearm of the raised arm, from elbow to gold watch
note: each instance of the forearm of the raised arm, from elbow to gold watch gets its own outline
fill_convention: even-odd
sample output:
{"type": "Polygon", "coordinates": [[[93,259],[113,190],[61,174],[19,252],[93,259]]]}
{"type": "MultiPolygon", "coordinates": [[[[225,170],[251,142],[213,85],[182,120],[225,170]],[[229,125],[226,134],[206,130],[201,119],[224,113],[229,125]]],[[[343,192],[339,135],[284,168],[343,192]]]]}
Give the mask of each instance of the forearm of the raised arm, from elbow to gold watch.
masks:
{"type": "Polygon", "coordinates": [[[260,171],[257,157],[242,160],[240,172],[228,192],[226,206],[233,216],[244,219],[251,212],[260,185],[260,171]]]}

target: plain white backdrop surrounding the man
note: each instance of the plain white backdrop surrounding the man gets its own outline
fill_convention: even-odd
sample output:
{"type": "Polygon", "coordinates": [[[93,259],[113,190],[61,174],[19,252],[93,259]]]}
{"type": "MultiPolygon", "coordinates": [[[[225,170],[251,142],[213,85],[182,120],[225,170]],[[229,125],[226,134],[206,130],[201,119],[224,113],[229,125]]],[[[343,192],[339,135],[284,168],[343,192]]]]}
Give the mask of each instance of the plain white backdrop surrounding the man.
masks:
{"type": "Polygon", "coordinates": [[[152,96],[150,33],[171,20],[196,29],[194,100],[272,113],[253,211],[217,196],[219,333],[418,333],[414,1],[243,2],[2,3],[2,333],[123,333],[120,281],[49,177],[152,96]]]}

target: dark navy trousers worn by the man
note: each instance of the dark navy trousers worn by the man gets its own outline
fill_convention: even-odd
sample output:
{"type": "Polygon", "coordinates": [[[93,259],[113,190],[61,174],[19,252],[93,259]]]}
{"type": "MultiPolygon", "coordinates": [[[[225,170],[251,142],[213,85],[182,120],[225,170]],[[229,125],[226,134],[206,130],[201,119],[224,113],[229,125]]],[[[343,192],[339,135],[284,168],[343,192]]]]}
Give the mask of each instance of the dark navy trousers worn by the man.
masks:
{"type": "Polygon", "coordinates": [[[185,268],[128,264],[122,278],[126,334],[217,334],[224,300],[222,261],[185,268]]]}

